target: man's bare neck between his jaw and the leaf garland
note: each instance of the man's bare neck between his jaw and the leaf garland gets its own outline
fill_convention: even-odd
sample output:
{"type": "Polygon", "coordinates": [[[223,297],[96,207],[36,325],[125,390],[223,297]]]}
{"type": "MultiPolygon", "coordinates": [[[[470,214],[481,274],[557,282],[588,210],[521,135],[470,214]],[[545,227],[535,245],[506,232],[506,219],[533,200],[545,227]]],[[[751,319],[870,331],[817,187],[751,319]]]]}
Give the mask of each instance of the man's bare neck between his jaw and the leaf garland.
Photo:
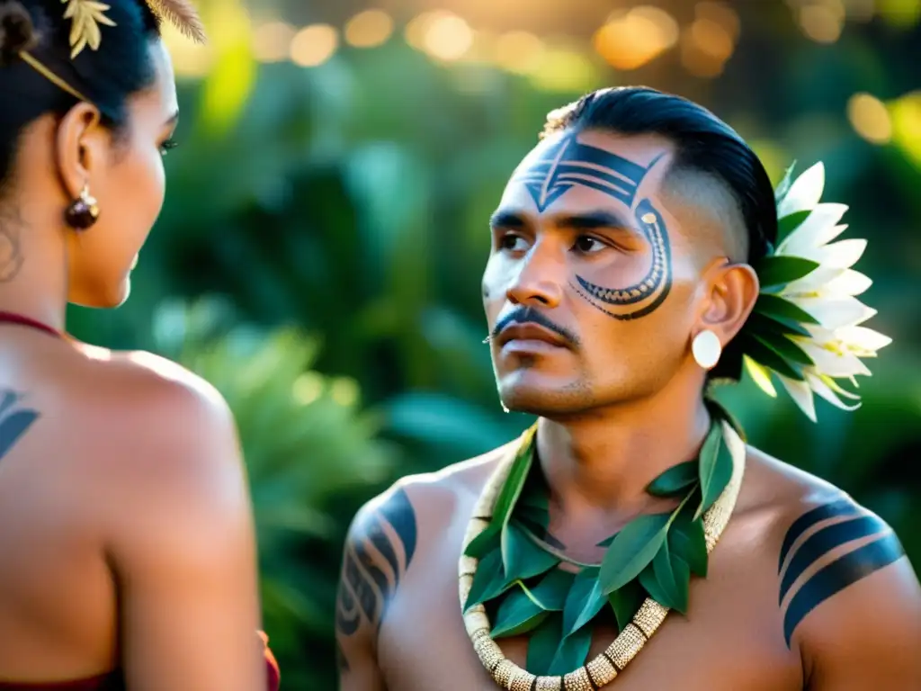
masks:
{"type": "Polygon", "coordinates": [[[686,404],[653,396],[577,420],[541,418],[538,457],[554,503],[566,515],[629,517],[649,508],[647,485],[704,442],[710,416],[699,391],[686,404]]]}

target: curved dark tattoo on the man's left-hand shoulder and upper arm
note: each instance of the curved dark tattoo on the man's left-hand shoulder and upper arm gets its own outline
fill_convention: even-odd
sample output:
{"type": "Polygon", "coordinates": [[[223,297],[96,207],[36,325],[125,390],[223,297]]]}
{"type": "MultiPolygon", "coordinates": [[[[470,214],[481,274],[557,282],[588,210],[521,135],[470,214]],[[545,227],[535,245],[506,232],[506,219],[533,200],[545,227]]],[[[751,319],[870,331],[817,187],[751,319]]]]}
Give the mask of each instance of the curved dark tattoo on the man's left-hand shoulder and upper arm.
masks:
{"type": "Polygon", "coordinates": [[[406,491],[394,492],[357,521],[345,545],[336,603],[336,629],[351,636],[362,622],[378,630],[413,560],[415,511],[406,491]]]}

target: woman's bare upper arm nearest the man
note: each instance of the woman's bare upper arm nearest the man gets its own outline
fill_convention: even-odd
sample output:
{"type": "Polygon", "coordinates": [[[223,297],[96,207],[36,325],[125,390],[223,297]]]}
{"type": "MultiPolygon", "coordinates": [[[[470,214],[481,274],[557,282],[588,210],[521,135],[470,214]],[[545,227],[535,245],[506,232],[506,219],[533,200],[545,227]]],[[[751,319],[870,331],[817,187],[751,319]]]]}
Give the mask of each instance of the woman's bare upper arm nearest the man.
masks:
{"type": "Polygon", "coordinates": [[[127,686],[264,689],[251,499],[233,418],[206,385],[152,389],[146,424],[114,433],[124,459],[107,552],[127,686]]]}

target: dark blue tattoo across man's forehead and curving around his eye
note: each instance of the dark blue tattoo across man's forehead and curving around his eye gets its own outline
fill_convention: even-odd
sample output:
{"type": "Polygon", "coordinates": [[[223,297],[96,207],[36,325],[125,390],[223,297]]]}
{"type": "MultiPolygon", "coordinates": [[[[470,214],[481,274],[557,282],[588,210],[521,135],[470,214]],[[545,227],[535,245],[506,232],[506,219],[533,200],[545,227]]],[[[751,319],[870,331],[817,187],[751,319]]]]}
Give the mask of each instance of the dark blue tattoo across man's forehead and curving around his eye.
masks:
{"type": "Polygon", "coordinates": [[[669,234],[656,208],[647,199],[637,203],[636,193],[649,170],[597,146],[582,144],[577,133],[564,135],[544,158],[520,170],[514,180],[523,182],[543,212],[576,185],[590,187],[626,205],[635,215],[637,227],[652,250],[652,262],[632,286],[604,287],[576,276],[571,284],[593,307],[619,321],[644,317],[668,297],[671,290],[669,234]]]}

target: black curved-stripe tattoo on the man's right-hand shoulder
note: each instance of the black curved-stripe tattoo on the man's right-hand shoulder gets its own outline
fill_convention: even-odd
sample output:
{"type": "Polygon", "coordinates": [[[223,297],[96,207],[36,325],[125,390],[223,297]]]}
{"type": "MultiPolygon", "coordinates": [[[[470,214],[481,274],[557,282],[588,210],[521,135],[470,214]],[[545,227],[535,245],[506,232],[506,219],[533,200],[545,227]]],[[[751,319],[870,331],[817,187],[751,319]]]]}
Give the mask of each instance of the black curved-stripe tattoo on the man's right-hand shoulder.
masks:
{"type": "Polygon", "coordinates": [[[861,511],[848,498],[824,504],[800,516],[784,537],[777,571],[780,577],[778,603],[784,615],[787,648],[796,627],[813,609],[902,556],[904,550],[892,529],[876,516],[861,511]],[[794,547],[803,534],[822,521],[829,522],[794,547]],[[832,550],[870,536],[874,536],[871,542],[837,557],[813,573],[799,585],[786,607],[783,606],[799,577],[812,565],[832,550]],[[787,556],[790,556],[788,560],[787,556]]]}

